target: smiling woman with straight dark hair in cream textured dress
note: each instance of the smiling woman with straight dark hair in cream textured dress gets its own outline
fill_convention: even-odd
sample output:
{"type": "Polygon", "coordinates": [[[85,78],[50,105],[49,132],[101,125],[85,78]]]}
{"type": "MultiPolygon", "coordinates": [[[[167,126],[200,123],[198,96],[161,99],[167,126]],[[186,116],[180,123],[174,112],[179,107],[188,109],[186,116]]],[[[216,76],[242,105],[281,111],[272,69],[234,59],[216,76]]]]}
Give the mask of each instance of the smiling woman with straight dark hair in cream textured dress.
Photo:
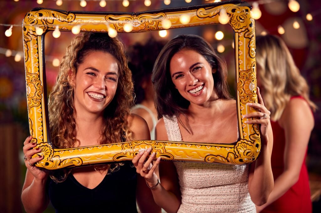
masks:
{"type": "MultiPolygon", "coordinates": [[[[158,56],[152,74],[160,120],[156,139],[232,143],[238,139],[236,101],[230,98],[227,67],[202,37],[179,35],[158,56]]],[[[245,115],[259,124],[261,156],[251,165],[161,162],[160,181],[150,150],[133,159],[151,188],[155,202],[167,212],[256,212],[272,188],[273,137],[270,112],[257,91],[260,111],[245,115]],[[261,119],[259,119],[261,117],[261,119]]]]}

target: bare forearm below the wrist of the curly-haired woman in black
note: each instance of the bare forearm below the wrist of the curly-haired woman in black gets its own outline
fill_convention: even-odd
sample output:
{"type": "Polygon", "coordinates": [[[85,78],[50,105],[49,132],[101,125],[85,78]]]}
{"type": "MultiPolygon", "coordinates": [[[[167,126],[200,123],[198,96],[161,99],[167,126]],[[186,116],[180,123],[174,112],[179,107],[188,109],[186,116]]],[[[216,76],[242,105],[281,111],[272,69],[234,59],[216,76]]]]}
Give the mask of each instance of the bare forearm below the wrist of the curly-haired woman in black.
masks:
{"type": "Polygon", "coordinates": [[[21,200],[26,212],[43,212],[47,208],[49,199],[46,182],[47,179],[34,179],[31,185],[22,191],[21,200]]]}

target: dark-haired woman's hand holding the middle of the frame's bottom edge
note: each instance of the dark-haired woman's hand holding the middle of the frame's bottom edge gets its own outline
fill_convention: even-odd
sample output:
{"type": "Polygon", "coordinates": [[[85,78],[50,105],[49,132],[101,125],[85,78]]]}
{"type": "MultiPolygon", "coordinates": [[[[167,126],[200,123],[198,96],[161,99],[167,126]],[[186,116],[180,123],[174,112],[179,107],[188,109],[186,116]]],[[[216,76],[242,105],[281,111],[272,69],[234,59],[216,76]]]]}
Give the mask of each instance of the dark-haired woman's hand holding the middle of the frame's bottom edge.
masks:
{"type": "Polygon", "coordinates": [[[152,164],[152,160],[155,156],[153,152],[146,161],[148,154],[152,151],[152,148],[148,148],[146,151],[140,151],[132,160],[136,172],[140,174],[143,178],[145,178],[146,183],[149,185],[150,188],[155,186],[158,183],[158,177],[155,174],[155,169],[158,167],[160,163],[160,157],[157,158],[154,165],[152,164]]]}

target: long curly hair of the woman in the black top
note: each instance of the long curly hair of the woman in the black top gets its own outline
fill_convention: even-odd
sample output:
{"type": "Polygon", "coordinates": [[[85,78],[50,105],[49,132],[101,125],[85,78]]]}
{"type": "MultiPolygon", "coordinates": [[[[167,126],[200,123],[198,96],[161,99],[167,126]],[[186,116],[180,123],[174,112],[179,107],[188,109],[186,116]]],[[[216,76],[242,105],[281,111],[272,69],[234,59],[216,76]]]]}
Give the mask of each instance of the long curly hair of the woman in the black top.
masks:
{"type": "MultiPolygon", "coordinates": [[[[119,70],[118,85],[115,97],[103,113],[103,126],[100,130],[100,144],[119,143],[132,139],[132,132],[128,128],[127,118],[133,105],[132,74],[127,65],[123,44],[117,38],[110,38],[103,33],[80,33],[76,35],[71,45],[66,49],[60,64],[56,84],[52,88],[48,99],[49,124],[51,143],[56,148],[70,148],[77,143],[75,135],[76,122],[74,109],[74,87],[69,83],[77,68],[82,64],[90,51],[108,52],[117,59],[119,70]]],[[[110,165],[95,166],[99,170],[117,170],[110,165]]],[[[65,180],[70,170],[66,170],[59,178],[51,176],[53,180],[65,180]]]]}

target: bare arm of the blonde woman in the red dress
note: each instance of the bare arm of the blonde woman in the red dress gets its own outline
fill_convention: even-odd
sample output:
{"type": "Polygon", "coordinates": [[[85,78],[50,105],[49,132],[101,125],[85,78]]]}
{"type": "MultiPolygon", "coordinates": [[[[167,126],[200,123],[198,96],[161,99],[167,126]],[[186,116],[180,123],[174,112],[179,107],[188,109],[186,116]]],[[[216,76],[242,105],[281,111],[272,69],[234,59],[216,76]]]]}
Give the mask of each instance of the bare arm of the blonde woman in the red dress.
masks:
{"type": "Polygon", "coordinates": [[[304,161],[314,119],[308,103],[302,99],[292,99],[279,120],[285,133],[284,170],[275,180],[274,188],[261,211],[286,193],[298,179],[304,161]]]}

